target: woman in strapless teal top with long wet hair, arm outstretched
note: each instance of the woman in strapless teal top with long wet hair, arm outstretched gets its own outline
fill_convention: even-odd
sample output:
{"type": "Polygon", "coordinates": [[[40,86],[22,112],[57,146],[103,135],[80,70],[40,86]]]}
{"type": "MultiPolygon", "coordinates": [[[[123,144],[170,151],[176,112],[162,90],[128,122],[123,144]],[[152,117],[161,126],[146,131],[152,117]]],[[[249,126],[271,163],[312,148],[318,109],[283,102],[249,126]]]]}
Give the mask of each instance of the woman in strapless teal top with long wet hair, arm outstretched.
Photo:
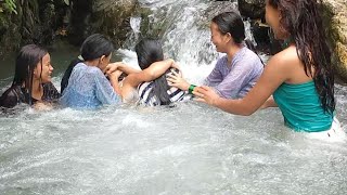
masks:
{"type": "Polygon", "coordinates": [[[250,115],[261,105],[279,106],[287,127],[334,134],[339,129],[334,118],[334,73],[321,8],[317,0],[267,0],[267,23],[288,47],[271,57],[244,99],[226,100],[208,87],[195,88],[194,94],[236,115],[250,115]]]}

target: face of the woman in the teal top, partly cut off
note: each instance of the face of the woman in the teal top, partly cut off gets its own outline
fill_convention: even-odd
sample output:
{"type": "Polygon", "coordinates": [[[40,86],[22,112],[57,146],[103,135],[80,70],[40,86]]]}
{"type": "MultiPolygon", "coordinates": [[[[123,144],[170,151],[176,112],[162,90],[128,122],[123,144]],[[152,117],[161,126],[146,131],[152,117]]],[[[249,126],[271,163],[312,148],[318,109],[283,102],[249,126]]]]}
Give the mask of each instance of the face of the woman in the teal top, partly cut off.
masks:
{"type": "Polygon", "coordinates": [[[269,0],[266,1],[265,10],[266,10],[265,17],[266,17],[267,24],[273,30],[274,38],[275,39],[282,39],[282,40],[286,39],[287,35],[284,31],[284,29],[281,28],[280,21],[282,18],[282,15],[281,15],[280,10],[273,8],[272,5],[270,5],[269,4],[269,0]]]}

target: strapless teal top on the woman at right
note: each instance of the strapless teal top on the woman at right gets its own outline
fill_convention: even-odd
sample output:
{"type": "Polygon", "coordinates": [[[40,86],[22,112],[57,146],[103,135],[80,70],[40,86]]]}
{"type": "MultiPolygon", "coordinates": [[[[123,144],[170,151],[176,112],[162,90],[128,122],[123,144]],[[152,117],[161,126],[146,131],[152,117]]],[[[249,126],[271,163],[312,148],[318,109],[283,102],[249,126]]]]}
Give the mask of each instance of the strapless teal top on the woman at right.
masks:
{"type": "Polygon", "coordinates": [[[295,131],[319,132],[332,127],[334,115],[324,112],[314,82],[282,83],[273,99],[284,117],[284,123],[295,131]]]}

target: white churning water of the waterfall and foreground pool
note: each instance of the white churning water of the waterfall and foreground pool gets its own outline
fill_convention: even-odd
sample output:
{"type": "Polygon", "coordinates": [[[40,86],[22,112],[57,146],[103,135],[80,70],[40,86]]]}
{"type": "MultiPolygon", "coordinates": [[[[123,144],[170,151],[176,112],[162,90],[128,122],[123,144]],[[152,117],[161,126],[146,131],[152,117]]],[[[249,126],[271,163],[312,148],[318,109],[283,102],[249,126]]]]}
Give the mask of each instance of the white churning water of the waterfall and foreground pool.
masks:
{"type": "MultiPolygon", "coordinates": [[[[165,23],[166,55],[200,83],[218,56],[202,23],[214,2],[140,3],[153,11],[151,22],[165,23]]],[[[136,66],[132,51],[118,52],[136,66]]],[[[346,95],[337,84],[345,131],[346,95]]],[[[277,108],[249,117],[193,101],[174,108],[28,108],[0,116],[0,194],[346,194],[346,146],[291,131],[277,108]]]]}

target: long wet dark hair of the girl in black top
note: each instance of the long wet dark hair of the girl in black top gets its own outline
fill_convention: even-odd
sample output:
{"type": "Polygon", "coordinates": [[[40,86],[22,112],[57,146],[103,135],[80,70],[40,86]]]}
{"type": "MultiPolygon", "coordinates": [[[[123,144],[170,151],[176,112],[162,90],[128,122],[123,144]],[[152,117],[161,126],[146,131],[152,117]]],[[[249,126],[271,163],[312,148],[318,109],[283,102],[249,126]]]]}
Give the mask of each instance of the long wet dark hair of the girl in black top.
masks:
{"type": "MultiPolygon", "coordinates": [[[[15,61],[15,72],[14,78],[12,82],[12,87],[14,86],[25,86],[25,95],[26,101],[29,105],[33,104],[31,92],[33,92],[33,78],[34,78],[34,69],[37,64],[41,62],[43,56],[48,54],[48,51],[36,44],[27,44],[24,46],[20,53],[17,54],[15,61]]],[[[42,74],[42,66],[41,66],[42,74]]],[[[40,76],[41,78],[41,76],[40,76]]]]}

